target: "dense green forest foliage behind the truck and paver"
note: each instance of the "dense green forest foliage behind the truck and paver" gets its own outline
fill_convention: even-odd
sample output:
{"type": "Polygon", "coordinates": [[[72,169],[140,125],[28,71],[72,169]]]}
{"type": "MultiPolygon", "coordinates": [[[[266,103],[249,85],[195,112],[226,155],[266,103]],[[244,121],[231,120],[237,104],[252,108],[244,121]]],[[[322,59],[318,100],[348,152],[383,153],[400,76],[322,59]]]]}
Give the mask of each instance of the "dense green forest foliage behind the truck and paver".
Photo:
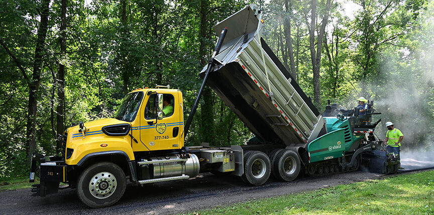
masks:
{"type": "MultiPolygon", "coordinates": [[[[183,92],[184,119],[187,119],[201,84],[198,73],[214,47],[216,37],[211,27],[251,1],[67,2],[67,48],[66,53],[61,53],[61,1],[51,1],[41,86],[37,92],[36,149],[47,155],[59,154],[55,144],[59,63],[66,68],[65,127],[112,117],[126,93],[156,84],[170,85],[183,92]],[[206,5],[205,9],[201,3],[206,5]],[[201,14],[205,15],[203,36],[201,14]]],[[[282,45],[284,20],[290,19],[297,82],[313,97],[306,26],[310,18],[305,16],[310,1],[289,2],[292,13],[282,10],[284,1],[259,2],[265,15],[263,37],[282,62],[289,62],[282,58],[287,56],[283,55],[287,50],[282,51],[282,45]]],[[[325,2],[318,1],[319,14],[325,2]]],[[[41,1],[0,0],[0,3],[0,41],[4,44],[0,47],[0,123],[4,128],[0,133],[1,179],[27,175],[26,77],[33,72],[41,1]]],[[[354,19],[344,16],[341,4],[333,3],[322,41],[322,108],[327,99],[347,108],[355,106],[356,97],[374,99],[376,109],[384,114],[383,121],[393,121],[403,131],[406,136],[403,147],[406,143],[429,145],[427,140],[432,139],[429,131],[434,129],[433,1],[375,0],[366,5],[365,1],[357,0],[354,6],[359,10],[354,19]],[[396,91],[393,96],[390,89],[396,91]],[[408,99],[401,103],[408,105],[395,111],[393,105],[402,97],[408,99]],[[410,125],[417,129],[408,129],[410,125]]],[[[243,144],[252,136],[220,98],[209,92],[200,101],[186,145],[203,141],[218,146],[243,144]]]]}

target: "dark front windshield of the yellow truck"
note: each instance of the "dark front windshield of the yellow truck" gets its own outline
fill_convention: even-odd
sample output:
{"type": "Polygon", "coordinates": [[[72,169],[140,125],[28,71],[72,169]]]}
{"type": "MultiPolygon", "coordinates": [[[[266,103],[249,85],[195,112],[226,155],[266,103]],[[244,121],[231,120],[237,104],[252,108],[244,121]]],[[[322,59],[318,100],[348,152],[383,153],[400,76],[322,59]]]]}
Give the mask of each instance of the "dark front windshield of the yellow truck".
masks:
{"type": "Polygon", "coordinates": [[[115,118],[127,122],[132,122],[136,118],[140,103],[142,102],[143,92],[130,93],[125,96],[121,107],[116,113],[115,118]]]}

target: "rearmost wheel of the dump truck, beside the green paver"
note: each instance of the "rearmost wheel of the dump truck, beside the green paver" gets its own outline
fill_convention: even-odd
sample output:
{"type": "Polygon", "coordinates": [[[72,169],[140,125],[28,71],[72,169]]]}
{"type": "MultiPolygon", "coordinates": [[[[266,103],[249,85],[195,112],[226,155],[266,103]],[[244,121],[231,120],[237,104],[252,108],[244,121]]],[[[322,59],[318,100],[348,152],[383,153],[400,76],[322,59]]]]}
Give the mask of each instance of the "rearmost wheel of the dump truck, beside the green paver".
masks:
{"type": "Polygon", "coordinates": [[[285,181],[294,180],[300,172],[300,159],[295,151],[281,150],[273,160],[273,175],[285,181]]]}

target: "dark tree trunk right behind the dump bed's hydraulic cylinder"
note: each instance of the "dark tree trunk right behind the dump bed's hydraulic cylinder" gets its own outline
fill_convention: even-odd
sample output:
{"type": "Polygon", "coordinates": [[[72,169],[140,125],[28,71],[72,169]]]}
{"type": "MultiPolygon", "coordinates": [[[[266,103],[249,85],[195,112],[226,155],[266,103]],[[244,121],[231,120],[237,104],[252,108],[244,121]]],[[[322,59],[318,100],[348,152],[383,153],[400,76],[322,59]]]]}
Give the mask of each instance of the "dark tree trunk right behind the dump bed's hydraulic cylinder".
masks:
{"type": "MultiPolygon", "coordinates": [[[[200,57],[200,65],[204,65],[206,63],[206,31],[207,28],[207,20],[206,13],[208,10],[208,2],[207,0],[200,1],[200,27],[199,27],[199,57],[200,57]]],[[[213,114],[213,101],[212,101],[212,90],[209,87],[205,87],[203,89],[203,105],[201,105],[201,119],[202,126],[201,136],[204,142],[213,142],[214,137],[214,114],[213,114]]]]}

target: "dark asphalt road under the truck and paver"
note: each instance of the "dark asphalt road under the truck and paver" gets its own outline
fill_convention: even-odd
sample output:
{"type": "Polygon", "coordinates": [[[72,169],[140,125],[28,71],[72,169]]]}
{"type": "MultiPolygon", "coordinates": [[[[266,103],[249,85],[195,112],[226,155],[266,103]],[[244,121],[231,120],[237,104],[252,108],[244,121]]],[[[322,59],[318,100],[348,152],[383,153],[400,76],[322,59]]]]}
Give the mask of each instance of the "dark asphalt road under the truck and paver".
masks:
{"type": "MultiPolygon", "coordinates": [[[[434,165],[414,159],[401,161],[406,171],[421,166],[434,168],[434,165]]],[[[82,204],[75,189],[59,190],[59,193],[46,197],[30,196],[30,189],[20,189],[0,192],[0,214],[175,214],[382,177],[387,175],[357,171],[297,178],[291,182],[271,178],[264,185],[253,187],[236,176],[218,177],[205,173],[187,180],[147,184],[144,187],[130,184],[116,205],[97,209],[82,204]]]]}

